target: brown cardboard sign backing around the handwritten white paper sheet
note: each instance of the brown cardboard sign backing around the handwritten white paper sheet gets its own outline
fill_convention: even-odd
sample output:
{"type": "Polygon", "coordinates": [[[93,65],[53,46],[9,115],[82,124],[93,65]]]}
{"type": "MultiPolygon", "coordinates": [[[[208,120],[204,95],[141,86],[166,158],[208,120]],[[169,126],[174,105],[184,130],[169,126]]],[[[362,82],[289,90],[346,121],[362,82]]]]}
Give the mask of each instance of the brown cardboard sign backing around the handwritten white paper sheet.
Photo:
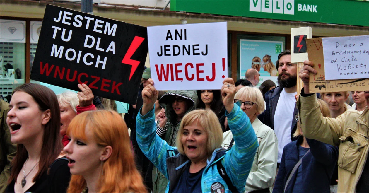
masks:
{"type": "MultiPolygon", "coordinates": [[[[366,78],[363,79],[344,79],[326,80],[325,63],[323,56],[322,38],[306,39],[309,60],[314,63],[317,74],[310,74],[310,92],[343,92],[343,91],[362,91],[369,87],[369,70],[366,78]]],[[[368,50],[362,52],[368,54],[368,50]]]]}

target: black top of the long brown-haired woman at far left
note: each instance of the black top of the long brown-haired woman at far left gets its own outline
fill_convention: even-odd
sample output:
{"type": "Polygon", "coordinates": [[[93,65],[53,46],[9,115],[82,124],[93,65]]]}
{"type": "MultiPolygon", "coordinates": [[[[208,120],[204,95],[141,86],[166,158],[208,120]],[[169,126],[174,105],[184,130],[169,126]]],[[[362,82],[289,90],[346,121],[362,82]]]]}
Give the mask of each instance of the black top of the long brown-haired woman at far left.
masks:
{"type": "MultiPolygon", "coordinates": [[[[66,159],[59,158],[54,161],[50,174],[47,175],[45,171],[41,178],[37,179],[34,185],[32,185],[26,192],[30,193],[66,193],[69,186],[70,172],[68,167],[68,161],[66,159]]],[[[14,192],[15,181],[6,187],[4,193],[14,192]]]]}

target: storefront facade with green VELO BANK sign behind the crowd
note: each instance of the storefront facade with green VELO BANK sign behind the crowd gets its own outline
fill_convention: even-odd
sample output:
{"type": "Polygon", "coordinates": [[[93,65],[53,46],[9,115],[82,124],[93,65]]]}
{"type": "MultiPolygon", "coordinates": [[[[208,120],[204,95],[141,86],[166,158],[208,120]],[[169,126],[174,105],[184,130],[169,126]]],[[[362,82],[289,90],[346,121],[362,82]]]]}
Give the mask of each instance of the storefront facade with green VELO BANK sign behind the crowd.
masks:
{"type": "MultiPolygon", "coordinates": [[[[279,52],[290,49],[291,28],[310,26],[313,28],[313,37],[369,34],[369,12],[363,11],[369,9],[369,2],[366,1],[327,0],[326,3],[311,1],[311,4],[306,4],[303,2],[308,1],[302,0],[230,0],[211,1],[215,2],[212,5],[206,2],[209,1],[172,0],[170,10],[99,3],[94,4],[93,13],[142,26],[227,21],[228,76],[235,80],[244,78],[245,71],[252,64],[260,66],[264,79],[276,80],[275,71],[270,69],[273,69],[272,65],[275,66],[279,52]],[[328,9],[329,4],[335,10],[328,9]],[[355,13],[362,12],[342,13],[339,9],[352,9],[353,6],[359,7],[355,8],[355,13]],[[293,14],[291,10],[294,10],[293,14]],[[332,11],[341,13],[329,17],[332,11]],[[356,16],[351,17],[350,14],[356,16]]],[[[0,95],[5,98],[19,84],[30,82],[30,65],[46,3],[78,11],[81,7],[77,3],[51,0],[0,0],[0,3],[0,88],[3,89],[0,95]],[[14,74],[13,70],[7,72],[8,69],[14,69],[14,74]]],[[[148,65],[147,60],[146,66],[148,65]]]]}

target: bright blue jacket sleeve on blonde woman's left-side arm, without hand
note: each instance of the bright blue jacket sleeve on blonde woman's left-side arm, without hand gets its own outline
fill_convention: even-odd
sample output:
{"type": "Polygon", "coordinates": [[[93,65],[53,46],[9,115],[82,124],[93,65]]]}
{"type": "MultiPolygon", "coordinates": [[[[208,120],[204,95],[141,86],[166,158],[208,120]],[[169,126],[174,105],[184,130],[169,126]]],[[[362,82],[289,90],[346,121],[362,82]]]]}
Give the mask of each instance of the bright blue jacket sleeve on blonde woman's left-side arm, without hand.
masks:
{"type": "MultiPolygon", "coordinates": [[[[142,108],[142,107],[141,107],[142,108]]],[[[136,118],[136,139],[142,153],[158,168],[168,179],[166,168],[167,150],[173,150],[172,146],[156,135],[154,110],[144,116],[141,109],[136,118]]]]}

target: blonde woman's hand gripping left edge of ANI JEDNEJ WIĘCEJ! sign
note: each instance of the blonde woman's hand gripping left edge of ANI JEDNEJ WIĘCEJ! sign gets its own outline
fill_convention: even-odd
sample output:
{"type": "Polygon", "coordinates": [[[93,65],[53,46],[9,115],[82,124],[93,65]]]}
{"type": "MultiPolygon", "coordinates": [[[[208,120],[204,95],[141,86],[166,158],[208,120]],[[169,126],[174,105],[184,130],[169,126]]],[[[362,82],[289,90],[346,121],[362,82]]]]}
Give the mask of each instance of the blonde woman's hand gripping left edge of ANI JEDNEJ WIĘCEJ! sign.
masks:
{"type": "Polygon", "coordinates": [[[152,108],[154,108],[154,104],[156,100],[158,100],[159,92],[154,87],[154,81],[152,79],[147,80],[149,85],[147,85],[144,90],[142,90],[142,100],[144,104],[142,105],[141,114],[145,115],[148,113],[152,108]]]}

